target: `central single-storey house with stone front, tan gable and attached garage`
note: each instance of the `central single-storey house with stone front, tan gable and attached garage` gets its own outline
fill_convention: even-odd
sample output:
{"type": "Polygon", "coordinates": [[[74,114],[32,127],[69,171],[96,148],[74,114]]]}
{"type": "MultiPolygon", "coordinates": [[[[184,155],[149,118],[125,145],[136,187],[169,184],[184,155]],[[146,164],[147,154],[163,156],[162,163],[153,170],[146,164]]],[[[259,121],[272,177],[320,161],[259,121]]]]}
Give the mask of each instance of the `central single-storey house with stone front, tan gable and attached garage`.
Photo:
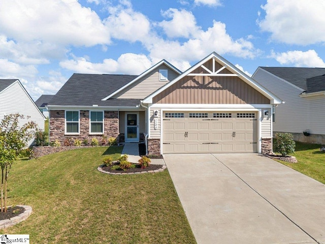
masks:
{"type": "Polygon", "coordinates": [[[74,74],[48,104],[50,141],[144,141],[148,154],[270,153],[281,100],[212,53],[181,73],[162,60],[139,76],[74,74]]]}

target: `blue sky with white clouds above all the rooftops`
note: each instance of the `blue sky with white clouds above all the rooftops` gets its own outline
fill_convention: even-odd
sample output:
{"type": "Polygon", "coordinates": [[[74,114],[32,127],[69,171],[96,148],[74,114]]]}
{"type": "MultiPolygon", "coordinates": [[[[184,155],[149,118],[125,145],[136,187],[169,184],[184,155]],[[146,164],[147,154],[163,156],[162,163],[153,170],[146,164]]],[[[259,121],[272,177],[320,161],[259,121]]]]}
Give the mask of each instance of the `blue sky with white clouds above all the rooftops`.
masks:
{"type": "MultiPolygon", "coordinates": [[[[213,51],[258,66],[325,67],[323,0],[2,0],[0,79],[33,99],[73,73],[185,71],[213,51]]],[[[91,85],[91,84],[89,84],[91,85]]]]}

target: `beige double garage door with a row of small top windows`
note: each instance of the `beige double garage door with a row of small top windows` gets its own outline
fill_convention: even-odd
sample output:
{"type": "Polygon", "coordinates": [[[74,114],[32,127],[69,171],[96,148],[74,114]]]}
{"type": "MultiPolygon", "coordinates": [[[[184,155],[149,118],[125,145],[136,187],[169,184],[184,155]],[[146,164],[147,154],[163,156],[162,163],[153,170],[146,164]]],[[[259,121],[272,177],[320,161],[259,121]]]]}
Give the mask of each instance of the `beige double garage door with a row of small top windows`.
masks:
{"type": "Polygon", "coordinates": [[[256,153],[256,114],[252,112],[166,112],[163,153],[256,153]]]}

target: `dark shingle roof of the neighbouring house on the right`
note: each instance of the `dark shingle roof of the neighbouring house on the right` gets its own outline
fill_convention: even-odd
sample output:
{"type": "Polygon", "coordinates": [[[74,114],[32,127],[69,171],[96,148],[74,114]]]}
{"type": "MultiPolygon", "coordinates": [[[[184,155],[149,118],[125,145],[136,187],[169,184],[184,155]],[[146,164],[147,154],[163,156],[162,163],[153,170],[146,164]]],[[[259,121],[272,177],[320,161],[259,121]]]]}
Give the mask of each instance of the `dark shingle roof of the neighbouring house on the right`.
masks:
{"type": "MultiPolygon", "coordinates": [[[[325,68],[259,67],[283,80],[307,90],[307,79],[325,74],[325,68]]],[[[311,87],[309,87],[311,88],[311,87]]]]}

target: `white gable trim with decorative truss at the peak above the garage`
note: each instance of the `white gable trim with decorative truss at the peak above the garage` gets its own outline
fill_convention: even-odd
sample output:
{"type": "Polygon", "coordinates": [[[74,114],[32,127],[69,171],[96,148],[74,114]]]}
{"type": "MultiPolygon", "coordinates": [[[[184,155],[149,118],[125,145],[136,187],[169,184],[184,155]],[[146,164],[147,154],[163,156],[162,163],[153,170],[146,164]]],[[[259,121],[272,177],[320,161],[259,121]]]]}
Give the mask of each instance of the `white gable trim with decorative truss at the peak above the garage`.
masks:
{"type": "MultiPolygon", "coordinates": [[[[226,74],[228,76],[238,76],[239,78],[241,78],[244,82],[248,83],[250,86],[252,86],[254,89],[256,89],[258,92],[262,93],[264,96],[266,96],[268,99],[270,99],[270,101],[272,102],[272,104],[280,104],[282,103],[281,99],[279,99],[278,97],[276,97],[274,94],[272,94],[269,90],[267,90],[265,87],[263,87],[261,84],[259,84],[258,82],[256,82],[254,79],[252,79],[251,77],[249,77],[248,75],[246,75],[244,72],[242,72],[241,70],[239,70],[236,66],[234,66],[233,64],[231,64],[230,62],[228,62],[228,60],[226,60],[225,58],[221,57],[219,54],[217,54],[216,52],[211,53],[210,55],[206,56],[205,58],[203,58],[199,63],[197,63],[196,65],[193,65],[192,67],[190,67],[188,70],[186,70],[185,72],[183,72],[181,75],[179,75],[177,78],[175,78],[174,80],[172,80],[171,82],[167,83],[166,85],[164,85],[163,87],[159,88],[158,90],[156,90],[154,93],[152,93],[151,95],[149,95],[147,98],[145,98],[143,100],[143,103],[152,103],[152,98],[155,97],[156,95],[158,95],[159,93],[163,92],[163,90],[167,89],[168,87],[170,87],[171,85],[175,84],[177,81],[179,81],[180,79],[182,79],[183,77],[187,76],[188,74],[190,74],[192,71],[196,70],[199,67],[202,67],[203,64],[205,64],[208,60],[210,59],[216,60],[219,64],[223,65],[223,68],[227,68],[229,69],[231,72],[233,72],[234,74],[226,74]]],[[[222,70],[217,70],[214,73],[207,70],[205,67],[204,68],[207,72],[207,74],[204,75],[212,75],[212,76],[222,76],[223,74],[219,74],[219,72],[222,70]]]]}

